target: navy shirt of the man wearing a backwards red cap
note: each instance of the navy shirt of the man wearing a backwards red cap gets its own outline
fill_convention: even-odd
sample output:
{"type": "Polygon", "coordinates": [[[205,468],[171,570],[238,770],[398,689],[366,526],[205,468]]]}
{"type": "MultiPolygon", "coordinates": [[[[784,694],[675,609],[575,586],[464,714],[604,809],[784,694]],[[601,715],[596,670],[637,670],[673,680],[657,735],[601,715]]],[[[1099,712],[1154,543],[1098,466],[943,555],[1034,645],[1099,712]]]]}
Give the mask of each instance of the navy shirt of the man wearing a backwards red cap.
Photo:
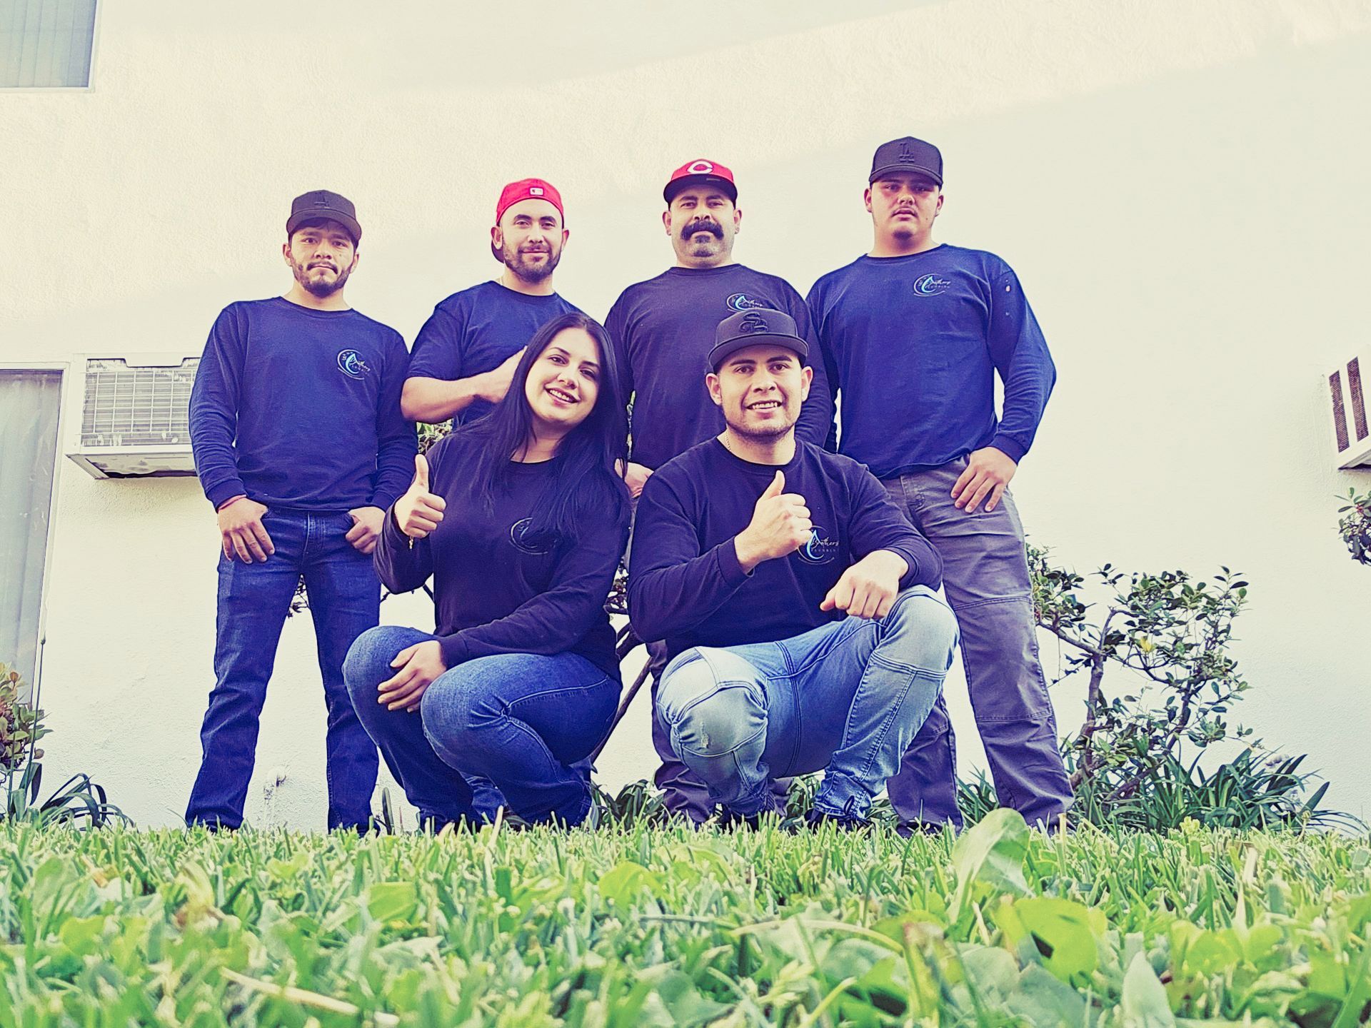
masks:
{"type": "MultiPolygon", "coordinates": [[[[433,308],[414,337],[410,378],[454,381],[494,371],[526,347],[543,325],[574,310],[557,293],[528,296],[499,282],[452,293],[433,308]]],[[[468,424],[489,411],[489,403],[473,400],[452,421],[468,424]]]]}

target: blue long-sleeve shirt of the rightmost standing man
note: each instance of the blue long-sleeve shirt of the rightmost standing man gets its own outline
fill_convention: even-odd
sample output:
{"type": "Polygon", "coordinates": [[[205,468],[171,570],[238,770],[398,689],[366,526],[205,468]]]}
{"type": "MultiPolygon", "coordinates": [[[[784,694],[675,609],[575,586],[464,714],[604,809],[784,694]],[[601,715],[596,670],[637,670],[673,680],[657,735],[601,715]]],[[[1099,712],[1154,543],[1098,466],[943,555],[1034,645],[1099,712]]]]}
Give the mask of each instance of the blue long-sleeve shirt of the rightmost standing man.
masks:
{"type": "Polygon", "coordinates": [[[946,244],[861,256],[814,282],[809,308],[842,395],[840,454],[880,478],[987,445],[1023,461],[1057,373],[998,256],[946,244]]]}

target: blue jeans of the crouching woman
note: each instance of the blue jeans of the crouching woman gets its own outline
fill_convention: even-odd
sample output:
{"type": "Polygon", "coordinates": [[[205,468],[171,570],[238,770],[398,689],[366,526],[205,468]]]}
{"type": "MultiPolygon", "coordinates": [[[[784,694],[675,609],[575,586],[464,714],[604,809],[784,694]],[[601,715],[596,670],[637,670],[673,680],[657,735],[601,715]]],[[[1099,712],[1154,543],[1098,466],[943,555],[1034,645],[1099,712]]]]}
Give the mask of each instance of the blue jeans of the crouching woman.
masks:
{"type": "Polygon", "coordinates": [[[362,724],[420,817],[441,825],[489,816],[473,802],[473,785],[489,780],[525,821],[580,824],[591,792],[574,765],[609,732],[617,676],[576,654],[480,657],[435,678],[417,713],[387,710],[376,687],[395,674],[391,661],[429,639],[383,625],[362,635],[343,665],[362,724]]]}

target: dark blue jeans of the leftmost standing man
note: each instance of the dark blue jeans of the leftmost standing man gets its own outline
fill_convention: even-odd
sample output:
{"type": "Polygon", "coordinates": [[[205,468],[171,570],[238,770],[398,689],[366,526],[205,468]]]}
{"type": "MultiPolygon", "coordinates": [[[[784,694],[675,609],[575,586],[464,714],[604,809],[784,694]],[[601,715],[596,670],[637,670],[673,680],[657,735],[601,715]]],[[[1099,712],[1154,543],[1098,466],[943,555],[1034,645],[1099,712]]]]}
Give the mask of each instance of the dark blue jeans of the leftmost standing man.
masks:
{"type": "Polygon", "coordinates": [[[381,615],[372,558],[344,539],[348,514],[271,509],[262,515],[276,552],[266,563],[219,554],[214,691],[200,728],[204,758],[186,805],[186,824],[237,828],[256,755],[258,718],[295,596],[304,577],[328,709],[328,827],[366,828],[380,762],[343,685],[352,640],[381,615]]]}

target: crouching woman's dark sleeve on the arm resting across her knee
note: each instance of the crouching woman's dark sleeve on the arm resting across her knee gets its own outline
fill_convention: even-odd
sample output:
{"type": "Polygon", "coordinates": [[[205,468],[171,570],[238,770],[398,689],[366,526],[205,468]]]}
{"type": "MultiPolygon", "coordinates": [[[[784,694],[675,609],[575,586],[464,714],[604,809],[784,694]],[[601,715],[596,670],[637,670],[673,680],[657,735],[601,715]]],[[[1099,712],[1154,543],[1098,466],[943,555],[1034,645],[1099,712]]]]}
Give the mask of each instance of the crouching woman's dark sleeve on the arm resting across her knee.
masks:
{"type": "Polygon", "coordinates": [[[587,518],[584,525],[576,543],[565,548],[544,592],[506,617],[441,637],[448,668],[496,654],[566,652],[605,617],[628,522],[587,518]]]}

